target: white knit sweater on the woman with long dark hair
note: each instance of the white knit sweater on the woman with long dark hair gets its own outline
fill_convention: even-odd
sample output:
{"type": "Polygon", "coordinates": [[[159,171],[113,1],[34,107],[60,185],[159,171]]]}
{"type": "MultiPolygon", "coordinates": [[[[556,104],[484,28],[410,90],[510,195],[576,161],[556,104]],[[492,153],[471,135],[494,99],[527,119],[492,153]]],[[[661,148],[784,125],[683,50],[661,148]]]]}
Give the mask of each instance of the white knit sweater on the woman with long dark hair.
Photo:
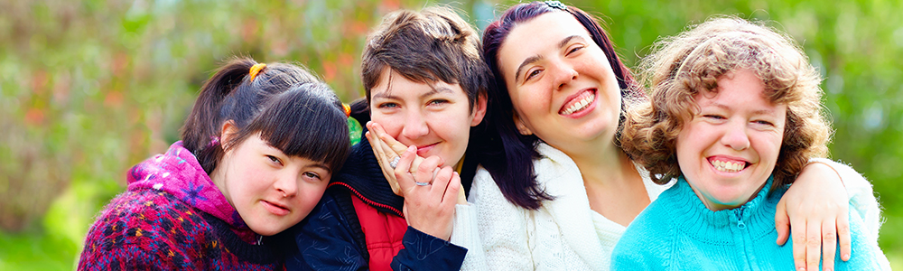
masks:
{"type": "MultiPolygon", "coordinates": [[[[517,207],[480,167],[470,205],[456,206],[452,243],[468,248],[461,270],[609,269],[611,251],[626,228],[590,209],[582,175],[569,156],[545,144],[536,150],[543,156],[534,162],[536,179],[555,200],[544,201],[539,210],[517,207]]],[[[818,161],[841,174],[852,206],[877,233],[880,210],[871,184],[849,166],[818,161]]],[[[652,182],[647,170],[635,165],[650,201],[671,186],[652,182]]]]}

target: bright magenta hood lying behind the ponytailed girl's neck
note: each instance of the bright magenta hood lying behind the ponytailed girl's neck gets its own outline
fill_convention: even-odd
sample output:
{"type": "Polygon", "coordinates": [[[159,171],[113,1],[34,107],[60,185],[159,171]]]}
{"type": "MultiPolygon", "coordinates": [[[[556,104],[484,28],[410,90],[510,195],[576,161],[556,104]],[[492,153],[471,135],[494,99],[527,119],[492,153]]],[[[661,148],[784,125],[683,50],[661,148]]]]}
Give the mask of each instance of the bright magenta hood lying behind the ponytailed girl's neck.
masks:
{"type": "Polygon", "coordinates": [[[128,171],[128,190],[154,189],[168,192],[186,204],[228,222],[238,229],[247,228],[237,210],[198,163],[198,159],[182,146],[173,143],[165,154],[157,154],[135,164],[128,171]]]}

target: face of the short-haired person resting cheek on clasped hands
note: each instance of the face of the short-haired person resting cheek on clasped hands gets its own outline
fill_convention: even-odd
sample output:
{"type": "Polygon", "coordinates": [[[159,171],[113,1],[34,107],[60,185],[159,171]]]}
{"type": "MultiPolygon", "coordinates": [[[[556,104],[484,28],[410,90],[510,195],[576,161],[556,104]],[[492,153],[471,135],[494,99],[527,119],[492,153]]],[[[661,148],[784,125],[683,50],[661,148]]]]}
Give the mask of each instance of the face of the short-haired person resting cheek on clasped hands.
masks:
{"type": "Polygon", "coordinates": [[[416,145],[421,157],[439,156],[445,165],[458,164],[476,126],[486,114],[486,98],[472,112],[458,84],[437,81],[430,86],[384,69],[370,90],[370,118],[386,134],[405,145],[416,145]]]}

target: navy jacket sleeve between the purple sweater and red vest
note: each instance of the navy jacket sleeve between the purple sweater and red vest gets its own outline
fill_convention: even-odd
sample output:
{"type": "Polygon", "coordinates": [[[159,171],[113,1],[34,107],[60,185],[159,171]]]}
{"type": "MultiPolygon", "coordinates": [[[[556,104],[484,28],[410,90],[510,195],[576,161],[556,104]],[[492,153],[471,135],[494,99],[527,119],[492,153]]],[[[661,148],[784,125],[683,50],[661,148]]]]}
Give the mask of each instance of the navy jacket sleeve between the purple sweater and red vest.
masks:
{"type": "Polygon", "coordinates": [[[367,270],[367,259],[339,208],[327,192],[307,218],[293,227],[298,251],[286,258],[287,270],[367,270]]]}

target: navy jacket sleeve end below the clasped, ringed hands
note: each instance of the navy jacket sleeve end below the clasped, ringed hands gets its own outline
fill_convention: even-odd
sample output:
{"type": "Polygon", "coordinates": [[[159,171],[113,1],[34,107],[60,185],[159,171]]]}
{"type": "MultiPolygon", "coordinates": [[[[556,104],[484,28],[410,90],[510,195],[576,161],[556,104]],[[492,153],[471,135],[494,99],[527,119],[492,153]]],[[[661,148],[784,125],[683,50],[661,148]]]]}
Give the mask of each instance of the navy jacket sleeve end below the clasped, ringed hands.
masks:
{"type": "Polygon", "coordinates": [[[461,270],[467,248],[407,227],[405,248],[392,258],[392,270],[461,270]]]}

